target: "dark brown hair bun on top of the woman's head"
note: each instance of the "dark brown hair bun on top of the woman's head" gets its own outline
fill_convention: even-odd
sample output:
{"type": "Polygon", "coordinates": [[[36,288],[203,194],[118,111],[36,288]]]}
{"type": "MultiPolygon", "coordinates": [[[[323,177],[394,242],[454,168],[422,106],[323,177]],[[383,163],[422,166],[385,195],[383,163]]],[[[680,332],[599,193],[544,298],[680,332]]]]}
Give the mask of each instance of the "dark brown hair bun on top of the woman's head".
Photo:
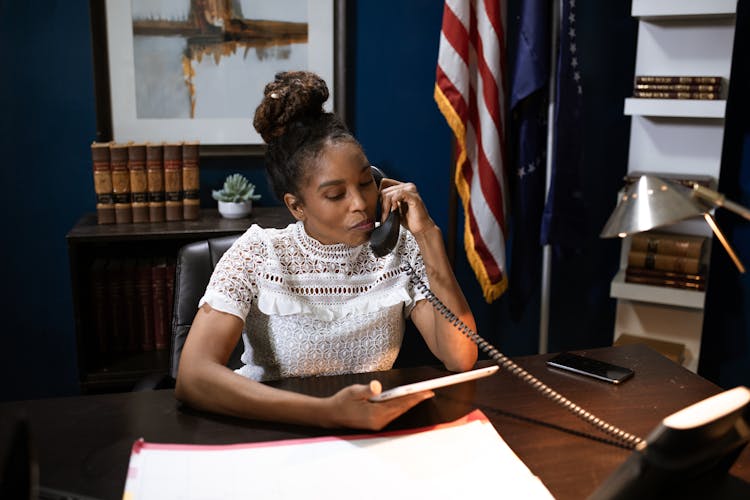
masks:
{"type": "Polygon", "coordinates": [[[263,90],[263,101],[255,110],[253,126],[266,143],[283,135],[289,124],[322,114],[328,86],[315,73],[277,73],[263,90]]]}

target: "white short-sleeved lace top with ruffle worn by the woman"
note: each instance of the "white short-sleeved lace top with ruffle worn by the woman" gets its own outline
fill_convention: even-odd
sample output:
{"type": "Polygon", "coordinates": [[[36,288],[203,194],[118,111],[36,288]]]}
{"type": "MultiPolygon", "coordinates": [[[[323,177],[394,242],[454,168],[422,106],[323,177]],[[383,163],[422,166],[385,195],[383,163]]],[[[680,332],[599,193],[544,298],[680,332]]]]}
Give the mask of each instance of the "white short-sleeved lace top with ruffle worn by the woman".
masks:
{"type": "Polygon", "coordinates": [[[322,245],[301,222],[253,225],[216,265],[199,306],[245,321],[245,364],[254,380],[387,370],[401,347],[405,318],[424,296],[399,270],[427,276],[414,236],[377,258],[369,244],[322,245]]]}

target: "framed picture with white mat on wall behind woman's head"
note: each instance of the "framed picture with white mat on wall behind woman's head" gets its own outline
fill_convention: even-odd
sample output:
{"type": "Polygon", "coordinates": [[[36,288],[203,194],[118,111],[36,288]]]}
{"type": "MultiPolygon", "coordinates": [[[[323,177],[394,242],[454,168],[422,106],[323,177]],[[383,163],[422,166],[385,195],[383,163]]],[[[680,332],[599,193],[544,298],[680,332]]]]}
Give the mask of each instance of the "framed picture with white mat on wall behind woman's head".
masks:
{"type": "MultiPolygon", "coordinates": [[[[305,0],[301,1],[304,2],[305,0]]],[[[174,2],[182,8],[184,8],[186,2],[188,5],[198,3],[191,2],[191,0],[174,0],[174,2]]],[[[169,0],[160,3],[169,3],[169,0]]],[[[187,22],[184,20],[162,22],[157,28],[152,28],[154,22],[151,19],[145,23],[141,21],[137,35],[134,35],[133,33],[136,30],[134,30],[130,1],[90,0],[94,90],[97,110],[96,141],[169,142],[197,140],[200,142],[201,156],[261,156],[265,152],[265,144],[252,126],[253,112],[262,98],[263,86],[273,79],[274,72],[291,69],[308,69],[323,77],[328,83],[331,94],[326,103],[326,109],[336,112],[344,121],[347,121],[346,0],[307,0],[307,4],[307,30],[305,40],[302,42],[307,52],[307,67],[301,68],[299,66],[285,67],[285,63],[294,65],[294,57],[288,57],[289,61],[285,61],[284,57],[276,57],[277,61],[263,60],[261,62],[264,65],[260,67],[257,61],[259,59],[274,59],[273,51],[270,51],[270,57],[266,57],[269,51],[262,44],[258,48],[259,45],[253,45],[252,40],[244,46],[242,43],[238,43],[236,38],[231,42],[222,41],[221,34],[216,36],[209,34],[209,36],[204,35],[203,39],[197,38],[194,36],[197,28],[187,30],[185,28],[187,22]],[[153,82],[150,86],[141,83],[143,78],[140,75],[143,74],[144,67],[141,61],[144,60],[144,57],[140,56],[139,58],[137,54],[144,53],[144,49],[139,48],[143,46],[142,40],[145,40],[153,30],[162,30],[158,32],[161,34],[168,29],[178,31],[178,36],[168,37],[169,40],[179,39],[185,33],[186,41],[182,42],[183,48],[181,49],[183,54],[188,53],[184,50],[184,44],[195,44],[196,39],[198,39],[199,49],[203,51],[198,53],[198,57],[189,59],[191,71],[185,70],[183,67],[185,75],[189,75],[191,78],[195,76],[193,81],[190,82],[187,81],[188,76],[185,76],[189,92],[181,88],[177,88],[176,92],[170,92],[172,87],[168,85],[162,88],[161,86],[154,86],[153,82]],[[142,38],[136,38],[136,36],[141,35],[142,38]],[[138,41],[139,47],[134,47],[134,41],[138,41]],[[227,45],[231,43],[234,45],[227,45]],[[211,44],[214,45],[206,49],[206,46],[211,44]],[[248,57],[248,54],[250,57],[248,57]],[[209,68],[204,73],[210,74],[210,78],[196,76],[198,71],[202,71],[203,67],[210,66],[217,60],[231,60],[232,68],[235,68],[237,72],[230,73],[223,69],[222,71],[211,71],[212,68],[209,68]],[[136,65],[138,65],[138,68],[136,68],[136,65]],[[136,87],[136,74],[139,75],[138,87],[136,87]],[[240,78],[233,79],[230,75],[239,75],[240,78]],[[256,76],[257,78],[254,78],[256,76]],[[234,85],[232,80],[241,81],[242,84],[234,85]],[[228,85],[231,85],[232,91],[235,92],[232,94],[232,99],[242,101],[243,104],[235,106],[235,101],[227,102],[229,98],[224,94],[227,92],[228,85]],[[157,92],[154,92],[154,89],[159,90],[160,95],[156,95],[157,92]],[[154,95],[149,95],[150,92],[154,95]],[[187,101],[182,95],[183,92],[189,96],[187,101],[192,104],[188,105],[188,108],[190,108],[188,111],[184,106],[187,101]],[[171,101],[177,102],[179,106],[175,102],[164,104],[164,101],[170,101],[170,97],[174,94],[179,94],[180,97],[171,101]],[[167,99],[165,99],[165,96],[167,99]],[[214,96],[220,98],[214,98],[214,96]],[[219,104],[215,107],[209,106],[207,103],[212,100],[218,101],[219,104]],[[145,112],[139,115],[139,110],[145,110],[145,112]],[[238,116],[222,116],[222,112],[238,116]],[[174,113],[174,115],[170,113],[174,113]]],[[[253,22],[248,19],[241,21],[253,22]]],[[[224,25],[227,24],[224,23],[224,25]]],[[[232,23],[232,25],[235,24],[232,23]]],[[[201,26],[200,29],[205,28],[201,26]]],[[[212,26],[209,26],[209,29],[217,31],[212,26]]],[[[153,40],[152,38],[148,41],[152,42],[153,40]]],[[[158,39],[156,40],[158,41],[158,39]]],[[[264,43],[268,45],[268,42],[264,43]]],[[[284,49],[283,44],[283,41],[276,43],[277,46],[284,49]]],[[[273,47],[273,43],[270,45],[273,47]]],[[[172,52],[169,50],[156,52],[164,54],[163,59],[161,59],[162,62],[168,60],[170,66],[177,64],[174,61],[176,53],[174,50],[172,52]]],[[[285,53],[288,52],[290,50],[286,50],[285,53]]],[[[193,50],[189,53],[194,54],[196,52],[193,50]]],[[[299,58],[296,60],[299,61],[299,58]]],[[[182,61],[184,65],[184,56],[182,61]]],[[[218,63],[216,64],[218,65],[218,63]]],[[[158,69],[161,70],[161,66],[158,69]]]]}

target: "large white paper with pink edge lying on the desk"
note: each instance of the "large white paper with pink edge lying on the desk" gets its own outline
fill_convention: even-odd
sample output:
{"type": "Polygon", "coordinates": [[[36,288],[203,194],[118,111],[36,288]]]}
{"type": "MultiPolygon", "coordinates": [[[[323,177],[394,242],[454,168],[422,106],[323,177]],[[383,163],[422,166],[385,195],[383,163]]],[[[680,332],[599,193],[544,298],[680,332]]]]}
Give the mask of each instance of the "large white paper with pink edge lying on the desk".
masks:
{"type": "Polygon", "coordinates": [[[406,495],[553,498],[477,410],[451,424],[405,433],[226,446],[136,443],[123,499],[406,495]]]}

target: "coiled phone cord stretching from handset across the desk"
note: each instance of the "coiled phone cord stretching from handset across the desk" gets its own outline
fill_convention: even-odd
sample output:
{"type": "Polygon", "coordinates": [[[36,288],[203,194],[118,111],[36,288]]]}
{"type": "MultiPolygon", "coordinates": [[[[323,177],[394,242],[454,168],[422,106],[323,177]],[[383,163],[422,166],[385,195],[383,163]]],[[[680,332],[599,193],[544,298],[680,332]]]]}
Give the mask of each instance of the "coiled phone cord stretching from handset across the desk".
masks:
{"type": "Polygon", "coordinates": [[[566,410],[573,413],[576,417],[596,427],[605,434],[614,437],[628,448],[635,448],[636,446],[644,442],[642,438],[630,434],[629,432],[625,432],[622,429],[605,422],[591,412],[584,410],[583,408],[536,378],[534,375],[518,366],[513,360],[509,359],[503,353],[498,351],[495,346],[487,342],[478,333],[469,328],[466,323],[461,321],[458,316],[453,314],[453,312],[448,309],[448,307],[443,304],[439,298],[437,298],[432,290],[430,290],[430,288],[425,285],[422,280],[419,279],[411,266],[404,265],[402,266],[401,270],[409,275],[409,279],[411,280],[411,282],[414,283],[414,285],[425,294],[427,300],[440,314],[443,315],[443,317],[450,321],[453,326],[458,328],[461,333],[471,339],[472,342],[474,342],[482,351],[484,351],[490,358],[492,358],[492,360],[495,361],[495,363],[497,363],[500,368],[503,368],[516,377],[520,378],[527,384],[531,385],[534,389],[539,391],[544,397],[559,404],[566,410]]]}

